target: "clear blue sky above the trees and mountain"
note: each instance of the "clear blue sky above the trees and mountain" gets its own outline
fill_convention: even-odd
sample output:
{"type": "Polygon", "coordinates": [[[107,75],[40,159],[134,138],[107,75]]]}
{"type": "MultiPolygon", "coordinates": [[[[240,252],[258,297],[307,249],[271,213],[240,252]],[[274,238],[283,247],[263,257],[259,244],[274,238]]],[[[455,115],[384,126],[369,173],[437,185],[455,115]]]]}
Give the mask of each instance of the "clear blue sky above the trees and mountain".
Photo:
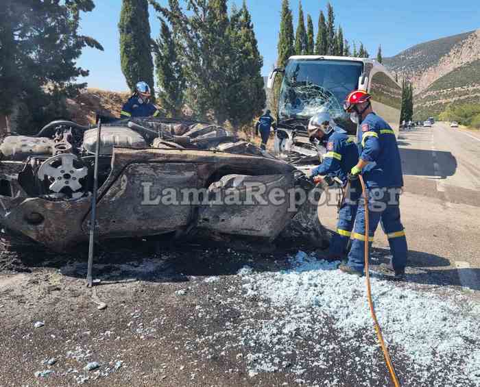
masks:
{"type": "MultiPolygon", "coordinates": [[[[160,0],[166,4],[167,0],[160,0]]],[[[276,43],[280,25],[281,0],[246,0],[259,50],[263,55],[263,75],[266,75],[276,60],[276,43]]],[[[230,5],[241,0],[229,0],[230,5]]],[[[307,22],[311,14],[315,34],[320,10],[326,13],[327,1],[303,0],[302,7],[307,22]]],[[[480,28],[480,8],[477,1],[398,0],[332,0],[335,25],[341,25],[349,40],[363,42],[371,56],[376,55],[379,44],[383,55],[392,56],[420,42],[455,35],[480,28]]],[[[89,87],[106,90],[127,90],[121,73],[119,55],[119,32],[117,23],[121,0],[95,0],[93,12],[82,15],[84,34],[93,36],[105,51],[85,48],[78,64],[90,70],[86,78],[89,87]]],[[[298,20],[298,1],[290,0],[293,25],[298,20]]],[[[150,9],[152,38],[158,36],[160,24],[156,13],[150,9]]],[[[85,81],[84,81],[85,80],[85,81]]]]}

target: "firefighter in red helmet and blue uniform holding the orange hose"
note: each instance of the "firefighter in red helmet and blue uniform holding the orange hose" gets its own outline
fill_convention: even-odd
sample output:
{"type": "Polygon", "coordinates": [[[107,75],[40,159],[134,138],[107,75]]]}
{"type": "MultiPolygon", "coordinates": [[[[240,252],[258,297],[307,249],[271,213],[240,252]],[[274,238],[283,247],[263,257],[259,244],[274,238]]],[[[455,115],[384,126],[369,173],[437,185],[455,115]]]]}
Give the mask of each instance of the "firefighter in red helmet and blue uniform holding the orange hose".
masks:
{"type": "MultiPolygon", "coordinates": [[[[348,95],[344,110],[350,113],[352,121],[359,123],[359,162],[352,168],[351,175],[361,173],[368,191],[369,244],[371,246],[376,227],[381,222],[393,257],[387,269],[396,279],[402,279],[407,265],[407,239],[400,221],[403,175],[395,133],[383,118],[373,112],[370,95],[363,90],[355,90],[348,95]]],[[[348,262],[339,266],[341,271],[349,274],[363,275],[364,271],[364,207],[363,199],[360,199],[348,262]]]]}

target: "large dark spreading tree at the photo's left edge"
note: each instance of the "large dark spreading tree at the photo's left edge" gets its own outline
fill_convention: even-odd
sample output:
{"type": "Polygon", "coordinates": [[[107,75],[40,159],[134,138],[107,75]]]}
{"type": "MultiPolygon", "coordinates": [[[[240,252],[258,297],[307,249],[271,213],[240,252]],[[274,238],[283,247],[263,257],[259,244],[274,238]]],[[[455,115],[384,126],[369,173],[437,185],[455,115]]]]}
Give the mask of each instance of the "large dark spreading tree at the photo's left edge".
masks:
{"type": "MultiPolygon", "coordinates": [[[[0,113],[13,130],[37,132],[58,113],[64,97],[86,84],[74,84],[88,71],[77,66],[86,46],[99,42],[80,35],[80,12],[95,8],[91,0],[3,0],[0,10],[0,113]],[[21,119],[10,114],[24,110],[21,119]]],[[[19,117],[20,118],[20,117],[19,117]]]]}

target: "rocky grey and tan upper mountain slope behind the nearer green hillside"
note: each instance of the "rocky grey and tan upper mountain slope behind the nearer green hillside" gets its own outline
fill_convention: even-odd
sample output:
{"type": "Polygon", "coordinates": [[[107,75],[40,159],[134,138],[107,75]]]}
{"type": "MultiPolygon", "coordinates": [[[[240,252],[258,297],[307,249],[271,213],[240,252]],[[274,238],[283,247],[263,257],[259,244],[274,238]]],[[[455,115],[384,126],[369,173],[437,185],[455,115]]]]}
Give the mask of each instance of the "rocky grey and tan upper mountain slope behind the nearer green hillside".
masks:
{"type": "Polygon", "coordinates": [[[480,29],[413,46],[384,64],[413,82],[416,95],[455,68],[480,59],[480,29]]]}

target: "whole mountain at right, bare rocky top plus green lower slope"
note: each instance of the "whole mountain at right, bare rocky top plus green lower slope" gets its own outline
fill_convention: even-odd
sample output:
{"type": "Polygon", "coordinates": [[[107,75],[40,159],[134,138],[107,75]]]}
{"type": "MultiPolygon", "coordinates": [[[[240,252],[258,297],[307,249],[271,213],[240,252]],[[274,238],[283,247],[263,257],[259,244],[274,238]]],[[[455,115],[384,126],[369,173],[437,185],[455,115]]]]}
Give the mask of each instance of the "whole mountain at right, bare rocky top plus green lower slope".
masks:
{"type": "Polygon", "coordinates": [[[418,118],[437,116],[480,93],[480,29],[420,43],[383,64],[413,83],[418,118]]]}

